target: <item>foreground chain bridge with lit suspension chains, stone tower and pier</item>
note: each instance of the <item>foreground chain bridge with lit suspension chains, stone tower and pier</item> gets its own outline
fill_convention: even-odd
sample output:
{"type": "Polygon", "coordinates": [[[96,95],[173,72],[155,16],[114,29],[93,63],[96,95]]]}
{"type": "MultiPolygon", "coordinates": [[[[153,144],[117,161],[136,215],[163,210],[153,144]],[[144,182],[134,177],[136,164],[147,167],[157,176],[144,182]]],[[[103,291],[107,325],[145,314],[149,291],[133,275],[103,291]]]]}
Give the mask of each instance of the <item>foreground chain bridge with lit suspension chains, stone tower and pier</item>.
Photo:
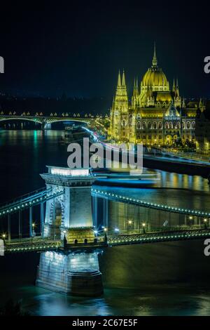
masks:
{"type": "Polygon", "coordinates": [[[4,253],[40,252],[38,286],[62,293],[98,295],[103,291],[98,263],[103,249],[210,237],[207,211],[108,192],[94,185],[98,176],[90,169],[47,167],[48,173],[41,174],[45,187],[0,205],[1,221],[7,221],[1,235],[4,253]],[[118,205],[123,218],[111,216],[113,204],[118,205]],[[40,206],[36,226],[35,206],[40,206]],[[22,227],[23,211],[29,212],[27,232],[22,227]],[[18,238],[11,226],[17,220],[18,238]]]}

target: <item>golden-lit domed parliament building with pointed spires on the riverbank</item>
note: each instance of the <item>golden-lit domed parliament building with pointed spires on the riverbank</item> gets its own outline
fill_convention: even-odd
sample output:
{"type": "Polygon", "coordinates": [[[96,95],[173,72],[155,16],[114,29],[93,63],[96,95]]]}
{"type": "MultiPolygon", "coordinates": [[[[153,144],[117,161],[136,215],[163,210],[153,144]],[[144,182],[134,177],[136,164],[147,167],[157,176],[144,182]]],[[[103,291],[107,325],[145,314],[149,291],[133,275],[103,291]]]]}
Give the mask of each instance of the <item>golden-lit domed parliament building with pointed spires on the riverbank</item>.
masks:
{"type": "Polygon", "coordinates": [[[181,98],[178,80],[172,88],[158,66],[154,47],[151,67],[141,84],[134,81],[131,102],[128,99],[125,72],[118,74],[116,95],[111,107],[109,140],[116,143],[172,145],[174,141],[195,142],[197,110],[204,110],[202,100],[189,102],[181,98]]]}

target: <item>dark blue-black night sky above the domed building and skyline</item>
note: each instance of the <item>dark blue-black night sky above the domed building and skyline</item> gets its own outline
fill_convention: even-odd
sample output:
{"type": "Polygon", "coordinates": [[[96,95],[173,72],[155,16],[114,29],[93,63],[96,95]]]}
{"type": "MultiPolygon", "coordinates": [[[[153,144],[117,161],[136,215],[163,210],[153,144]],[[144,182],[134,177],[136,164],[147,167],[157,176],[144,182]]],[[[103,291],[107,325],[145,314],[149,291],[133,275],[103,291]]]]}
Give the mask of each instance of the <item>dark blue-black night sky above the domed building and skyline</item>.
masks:
{"type": "Polygon", "coordinates": [[[2,8],[1,91],[19,95],[113,96],[119,69],[127,87],[158,64],[181,96],[209,97],[210,11],[207,1],[57,1],[2,8]],[[114,4],[113,4],[114,3],[114,4]]]}

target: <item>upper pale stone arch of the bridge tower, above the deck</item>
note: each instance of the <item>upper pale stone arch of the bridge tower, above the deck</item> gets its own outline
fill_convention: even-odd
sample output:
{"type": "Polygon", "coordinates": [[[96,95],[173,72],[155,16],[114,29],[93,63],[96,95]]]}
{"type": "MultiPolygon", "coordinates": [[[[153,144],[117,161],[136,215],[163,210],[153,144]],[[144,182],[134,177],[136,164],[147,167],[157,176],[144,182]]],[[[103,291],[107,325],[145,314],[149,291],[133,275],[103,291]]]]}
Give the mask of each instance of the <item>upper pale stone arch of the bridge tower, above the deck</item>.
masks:
{"type": "Polygon", "coordinates": [[[46,202],[44,237],[66,239],[94,239],[92,223],[91,187],[96,179],[89,169],[69,169],[47,166],[48,173],[41,174],[46,188],[63,194],[46,202]],[[56,225],[56,204],[61,208],[60,225],[56,225]],[[78,237],[80,230],[80,237],[78,237]]]}

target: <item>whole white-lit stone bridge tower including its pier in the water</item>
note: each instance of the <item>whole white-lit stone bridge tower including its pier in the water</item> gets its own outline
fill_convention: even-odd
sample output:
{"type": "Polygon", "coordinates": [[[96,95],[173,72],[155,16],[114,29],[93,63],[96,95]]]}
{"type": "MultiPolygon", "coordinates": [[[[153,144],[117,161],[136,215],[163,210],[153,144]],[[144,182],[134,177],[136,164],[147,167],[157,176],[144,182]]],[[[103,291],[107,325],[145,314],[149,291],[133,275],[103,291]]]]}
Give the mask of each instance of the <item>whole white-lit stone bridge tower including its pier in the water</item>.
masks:
{"type": "Polygon", "coordinates": [[[43,235],[62,239],[63,248],[41,253],[36,285],[80,296],[102,294],[102,274],[92,223],[91,186],[96,179],[89,169],[47,166],[41,174],[47,189],[64,193],[46,202],[43,235]]]}

